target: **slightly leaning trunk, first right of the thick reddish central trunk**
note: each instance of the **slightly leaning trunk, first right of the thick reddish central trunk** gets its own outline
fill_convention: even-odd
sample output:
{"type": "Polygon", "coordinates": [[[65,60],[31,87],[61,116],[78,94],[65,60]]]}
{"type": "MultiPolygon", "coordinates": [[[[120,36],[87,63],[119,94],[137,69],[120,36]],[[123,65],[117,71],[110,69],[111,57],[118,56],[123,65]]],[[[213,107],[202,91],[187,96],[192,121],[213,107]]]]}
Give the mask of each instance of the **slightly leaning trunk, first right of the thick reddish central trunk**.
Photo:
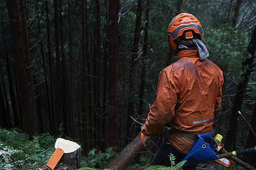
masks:
{"type": "Polygon", "coordinates": [[[136,77],[136,67],[137,67],[137,59],[139,57],[138,49],[140,42],[140,29],[141,29],[141,12],[142,12],[142,0],[138,1],[137,4],[137,15],[136,15],[136,24],[135,31],[133,36],[133,49],[132,49],[132,61],[131,61],[131,70],[130,70],[130,78],[129,78],[129,98],[128,98],[128,114],[127,114],[127,137],[132,137],[134,133],[137,133],[134,128],[131,129],[132,125],[132,117],[134,117],[135,112],[135,101],[132,99],[135,97],[137,84],[135,84],[136,77]]]}

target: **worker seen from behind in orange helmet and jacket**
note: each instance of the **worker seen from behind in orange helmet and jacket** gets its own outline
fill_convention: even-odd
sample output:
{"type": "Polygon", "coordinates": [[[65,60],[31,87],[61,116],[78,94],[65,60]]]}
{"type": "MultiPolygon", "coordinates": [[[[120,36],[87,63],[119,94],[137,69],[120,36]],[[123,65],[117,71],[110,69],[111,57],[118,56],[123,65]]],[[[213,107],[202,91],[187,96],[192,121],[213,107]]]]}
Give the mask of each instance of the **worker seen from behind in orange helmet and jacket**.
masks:
{"type": "MultiPolygon", "coordinates": [[[[211,133],[213,118],[221,108],[223,73],[212,61],[202,42],[203,29],[195,16],[182,13],[171,20],[168,41],[177,62],[163,69],[158,78],[157,99],[141,127],[143,145],[149,137],[171,126],[152,160],[152,165],[181,162],[197,140],[196,134],[211,133]]],[[[183,167],[196,169],[196,165],[183,167]]]]}

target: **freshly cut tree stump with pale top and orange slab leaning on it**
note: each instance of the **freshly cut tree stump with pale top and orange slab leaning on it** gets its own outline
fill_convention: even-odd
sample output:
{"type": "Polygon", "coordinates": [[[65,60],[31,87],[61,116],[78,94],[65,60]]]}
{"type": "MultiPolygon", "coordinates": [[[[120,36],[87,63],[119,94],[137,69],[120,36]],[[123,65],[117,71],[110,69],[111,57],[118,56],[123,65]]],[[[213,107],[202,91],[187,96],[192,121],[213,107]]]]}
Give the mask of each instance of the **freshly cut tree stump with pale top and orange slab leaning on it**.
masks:
{"type": "Polygon", "coordinates": [[[54,170],[79,169],[81,167],[81,146],[77,143],[58,138],[54,147],[56,150],[51,159],[49,159],[47,167],[54,170]],[[62,156],[56,153],[60,151],[64,152],[62,156]],[[60,155],[61,158],[57,158],[58,155],[60,155]]]}

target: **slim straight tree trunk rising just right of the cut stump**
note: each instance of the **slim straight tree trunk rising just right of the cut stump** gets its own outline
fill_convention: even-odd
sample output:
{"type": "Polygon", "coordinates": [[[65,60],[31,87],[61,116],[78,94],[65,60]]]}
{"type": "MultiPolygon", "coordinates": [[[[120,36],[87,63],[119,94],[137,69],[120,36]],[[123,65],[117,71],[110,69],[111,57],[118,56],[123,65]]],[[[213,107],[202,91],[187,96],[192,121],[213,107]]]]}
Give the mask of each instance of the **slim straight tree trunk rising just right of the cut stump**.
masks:
{"type": "Polygon", "coordinates": [[[83,145],[85,152],[89,151],[89,112],[88,112],[88,87],[87,87],[87,56],[86,56],[86,0],[81,0],[82,3],[82,77],[83,77],[83,145]]]}

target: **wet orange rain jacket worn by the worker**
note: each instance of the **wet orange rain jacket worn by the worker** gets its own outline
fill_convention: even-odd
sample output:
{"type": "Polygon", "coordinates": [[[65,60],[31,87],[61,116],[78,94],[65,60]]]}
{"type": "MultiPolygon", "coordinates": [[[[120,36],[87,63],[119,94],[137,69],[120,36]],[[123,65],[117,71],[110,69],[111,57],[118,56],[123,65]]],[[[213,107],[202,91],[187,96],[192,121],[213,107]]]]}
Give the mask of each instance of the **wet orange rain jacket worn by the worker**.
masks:
{"type": "MultiPolygon", "coordinates": [[[[223,73],[212,61],[199,60],[198,50],[182,50],[177,62],[163,69],[157,85],[157,99],[141,127],[146,136],[171,127],[190,133],[210,133],[214,113],[221,107],[223,73]]],[[[170,144],[187,154],[193,141],[171,135],[170,144]]]]}

